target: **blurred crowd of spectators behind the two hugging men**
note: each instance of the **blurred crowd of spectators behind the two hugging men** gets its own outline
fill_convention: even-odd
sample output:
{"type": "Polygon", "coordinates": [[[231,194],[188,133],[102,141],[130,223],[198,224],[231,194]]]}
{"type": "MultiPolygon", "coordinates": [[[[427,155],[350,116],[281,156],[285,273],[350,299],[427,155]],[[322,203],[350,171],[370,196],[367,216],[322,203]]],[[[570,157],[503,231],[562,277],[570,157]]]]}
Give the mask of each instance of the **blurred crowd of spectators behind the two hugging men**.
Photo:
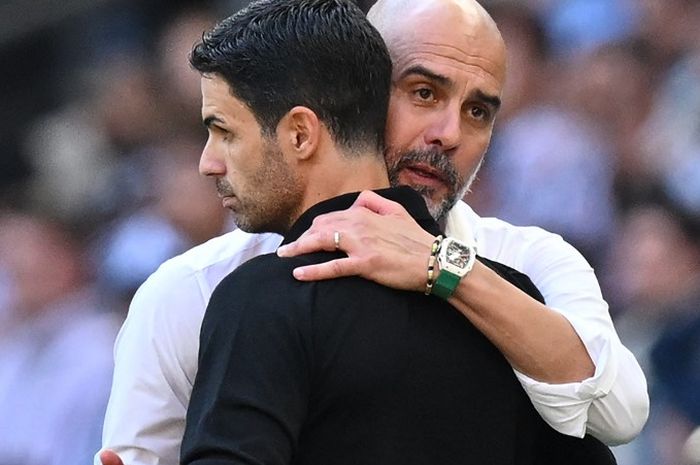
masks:
{"type": "MultiPolygon", "coordinates": [[[[85,3],[0,35],[0,465],[91,462],[136,288],[235,227],[187,55],[246,2],[85,3]]],[[[700,1],[483,4],[509,74],[467,200],[596,269],[652,401],[618,462],[700,463],[700,1]]]]}

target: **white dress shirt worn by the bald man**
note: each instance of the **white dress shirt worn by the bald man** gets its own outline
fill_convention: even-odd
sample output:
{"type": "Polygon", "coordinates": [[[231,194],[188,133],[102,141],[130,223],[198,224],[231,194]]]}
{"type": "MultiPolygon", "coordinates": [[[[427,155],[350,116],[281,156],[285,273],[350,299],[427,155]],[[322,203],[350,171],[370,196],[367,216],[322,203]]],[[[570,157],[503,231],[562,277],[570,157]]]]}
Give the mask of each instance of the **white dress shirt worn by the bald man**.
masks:
{"type": "MultiPolygon", "coordinates": [[[[555,234],[481,218],[464,202],[450,212],[446,232],[464,240],[473,235],[480,255],[527,274],[583,340],[596,366],[590,379],[552,385],[516,371],[542,417],[562,433],[589,431],[610,445],[636,436],[648,415],[646,380],[621,344],[586,260],[555,234]]],[[[236,230],[167,261],[139,288],[117,337],[103,432],[103,447],[125,465],[179,462],[211,293],[234,268],[274,252],[280,241],[236,230]]]]}

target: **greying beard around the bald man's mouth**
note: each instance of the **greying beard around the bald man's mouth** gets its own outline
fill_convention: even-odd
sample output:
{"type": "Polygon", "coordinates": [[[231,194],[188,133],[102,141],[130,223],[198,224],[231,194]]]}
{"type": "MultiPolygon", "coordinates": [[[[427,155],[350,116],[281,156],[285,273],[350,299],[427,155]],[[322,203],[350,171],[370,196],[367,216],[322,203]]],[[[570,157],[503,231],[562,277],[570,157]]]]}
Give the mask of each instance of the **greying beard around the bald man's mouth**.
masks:
{"type": "Polygon", "coordinates": [[[411,165],[418,163],[425,164],[439,173],[447,188],[447,193],[441,198],[436,198],[438,194],[435,188],[431,186],[408,184],[423,196],[430,215],[437,222],[444,221],[452,207],[469,192],[483,161],[483,159],[479,161],[477,167],[467,178],[459,174],[451,157],[438,149],[407,150],[395,154],[391,159],[393,162],[387,163],[387,170],[389,173],[389,182],[394,187],[402,184],[400,174],[411,165]]]}

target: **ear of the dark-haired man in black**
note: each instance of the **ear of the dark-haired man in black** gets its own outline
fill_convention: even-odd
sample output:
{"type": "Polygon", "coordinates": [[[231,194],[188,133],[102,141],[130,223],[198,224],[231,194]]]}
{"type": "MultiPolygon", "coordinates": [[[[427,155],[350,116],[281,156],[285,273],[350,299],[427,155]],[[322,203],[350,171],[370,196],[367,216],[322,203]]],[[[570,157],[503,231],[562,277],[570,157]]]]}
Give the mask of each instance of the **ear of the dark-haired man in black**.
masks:
{"type": "Polygon", "coordinates": [[[277,125],[277,140],[286,145],[287,153],[293,153],[299,160],[306,160],[318,150],[322,130],[322,124],[313,110],[296,106],[277,125]]]}

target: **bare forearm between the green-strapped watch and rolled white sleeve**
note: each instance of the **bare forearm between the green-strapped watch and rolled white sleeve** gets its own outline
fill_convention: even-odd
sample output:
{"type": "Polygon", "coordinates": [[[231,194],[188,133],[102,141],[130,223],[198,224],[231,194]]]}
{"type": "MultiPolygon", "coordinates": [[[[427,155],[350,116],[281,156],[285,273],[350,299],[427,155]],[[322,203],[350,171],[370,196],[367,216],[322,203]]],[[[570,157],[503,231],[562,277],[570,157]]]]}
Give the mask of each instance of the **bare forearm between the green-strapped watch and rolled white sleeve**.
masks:
{"type": "Polygon", "coordinates": [[[579,382],[595,366],[569,321],[477,262],[449,299],[523,374],[579,382]]]}

